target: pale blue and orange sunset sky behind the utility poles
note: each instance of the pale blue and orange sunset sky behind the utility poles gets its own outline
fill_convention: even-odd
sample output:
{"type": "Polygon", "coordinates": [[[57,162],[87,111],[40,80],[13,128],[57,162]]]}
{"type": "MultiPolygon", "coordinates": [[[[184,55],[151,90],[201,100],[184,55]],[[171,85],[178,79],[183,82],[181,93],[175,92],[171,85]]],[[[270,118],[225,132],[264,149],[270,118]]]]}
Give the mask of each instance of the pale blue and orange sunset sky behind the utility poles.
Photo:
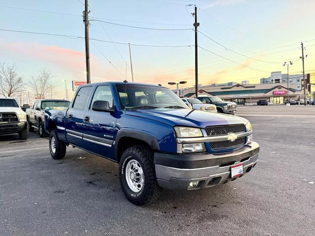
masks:
{"type": "MultiPolygon", "coordinates": [[[[83,2],[2,1],[0,29],[71,37],[0,31],[0,62],[16,62],[25,82],[41,69],[50,70],[55,96],[64,98],[66,80],[71,98],[71,81],[86,80],[84,39],[75,37],[84,36],[83,2]]],[[[89,0],[89,4],[92,39],[159,46],[194,45],[194,18],[189,15],[193,6],[185,4],[196,4],[200,32],[216,41],[199,33],[198,44],[217,54],[198,49],[200,84],[242,80],[259,83],[272,71],[286,73],[282,64],[289,60],[293,61],[290,71],[300,73],[301,41],[308,55],[305,70],[315,71],[314,0],[89,0]],[[136,29],[95,19],[135,27],[188,30],[136,29]]],[[[126,61],[130,66],[127,45],[91,40],[90,53],[92,83],[125,79],[126,61]]],[[[131,46],[131,54],[136,82],[166,86],[170,81],[185,80],[187,85],[194,85],[193,46],[131,46]]],[[[131,81],[129,68],[127,80],[131,81]]]]}

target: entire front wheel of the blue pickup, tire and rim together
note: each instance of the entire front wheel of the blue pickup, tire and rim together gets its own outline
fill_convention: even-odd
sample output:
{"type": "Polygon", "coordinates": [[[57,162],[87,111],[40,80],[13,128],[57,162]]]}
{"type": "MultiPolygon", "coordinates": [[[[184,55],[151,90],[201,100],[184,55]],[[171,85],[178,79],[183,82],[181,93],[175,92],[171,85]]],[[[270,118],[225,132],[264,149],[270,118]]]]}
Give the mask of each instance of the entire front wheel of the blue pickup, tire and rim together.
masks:
{"type": "Polygon", "coordinates": [[[144,146],[127,148],[119,163],[119,177],[127,200],[135,205],[155,202],[160,194],[153,152],[144,146]]]}

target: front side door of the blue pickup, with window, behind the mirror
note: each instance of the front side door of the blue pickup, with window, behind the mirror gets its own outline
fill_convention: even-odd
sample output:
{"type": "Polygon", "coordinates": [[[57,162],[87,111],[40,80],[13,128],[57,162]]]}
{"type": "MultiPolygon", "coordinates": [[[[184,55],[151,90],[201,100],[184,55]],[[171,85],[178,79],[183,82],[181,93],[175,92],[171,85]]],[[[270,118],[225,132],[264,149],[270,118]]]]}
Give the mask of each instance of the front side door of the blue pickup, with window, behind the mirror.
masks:
{"type": "Polygon", "coordinates": [[[108,101],[113,106],[112,91],[107,85],[99,85],[95,89],[92,101],[84,116],[84,147],[95,154],[115,160],[114,144],[116,139],[116,120],[114,112],[93,111],[95,101],[108,101]]]}

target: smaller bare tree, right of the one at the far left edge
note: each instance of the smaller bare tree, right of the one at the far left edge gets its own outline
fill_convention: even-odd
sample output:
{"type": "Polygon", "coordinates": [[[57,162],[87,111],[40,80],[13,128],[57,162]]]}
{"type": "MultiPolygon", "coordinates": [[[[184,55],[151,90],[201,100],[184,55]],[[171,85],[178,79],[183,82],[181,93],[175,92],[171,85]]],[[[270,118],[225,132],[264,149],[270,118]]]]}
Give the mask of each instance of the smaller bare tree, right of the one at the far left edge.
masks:
{"type": "Polygon", "coordinates": [[[37,75],[32,76],[32,79],[29,82],[29,86],[34,91],[37,98],[44,98],[47,94],[50,93],[50,89],[54,88],[53,74],[48,70],[41,70],[37,75]]]}

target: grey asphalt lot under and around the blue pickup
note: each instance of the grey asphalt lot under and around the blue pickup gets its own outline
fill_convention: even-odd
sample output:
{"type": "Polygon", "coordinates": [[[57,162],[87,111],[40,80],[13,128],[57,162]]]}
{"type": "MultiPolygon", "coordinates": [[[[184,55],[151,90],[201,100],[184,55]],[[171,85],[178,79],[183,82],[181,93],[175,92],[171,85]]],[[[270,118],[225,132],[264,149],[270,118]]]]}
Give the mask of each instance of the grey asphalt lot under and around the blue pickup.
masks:
{"type": "Polygon", "coordinates": [[[260,162],[201,191],[163,190],[137,207],[118,165],[78,148],[53,160],[48,140],[0,137],[0,235],[315,235],[315,106],[239,107],[260,162]]]}

